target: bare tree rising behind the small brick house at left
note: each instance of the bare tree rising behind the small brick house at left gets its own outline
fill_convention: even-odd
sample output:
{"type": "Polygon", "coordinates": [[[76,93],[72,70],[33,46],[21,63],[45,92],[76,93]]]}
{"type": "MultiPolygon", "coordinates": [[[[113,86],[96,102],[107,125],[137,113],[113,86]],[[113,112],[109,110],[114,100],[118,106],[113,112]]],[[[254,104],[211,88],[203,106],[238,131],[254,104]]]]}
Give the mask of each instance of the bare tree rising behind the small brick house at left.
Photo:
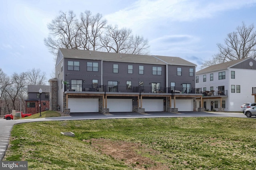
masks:
{"type": "Polygon", "coordinates": [[[28,84],[30,85],[45,85],[46,80],[46,73],[41,72],[40,68],[32,70],[28,70],[26,72],[28,78],[28,84]]]}

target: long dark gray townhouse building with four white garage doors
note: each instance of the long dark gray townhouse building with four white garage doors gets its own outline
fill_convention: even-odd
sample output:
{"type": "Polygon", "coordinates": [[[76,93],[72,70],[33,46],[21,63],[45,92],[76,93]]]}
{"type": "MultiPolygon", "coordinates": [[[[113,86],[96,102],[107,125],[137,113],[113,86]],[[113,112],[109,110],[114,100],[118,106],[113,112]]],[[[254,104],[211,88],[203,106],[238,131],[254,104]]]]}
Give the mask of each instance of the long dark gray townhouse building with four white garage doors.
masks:
{"type": "Polygon", "coordinates": [[[196,64],[179,57],[59,49],[50,107],[72,112],[196,111],[196,64]]]}

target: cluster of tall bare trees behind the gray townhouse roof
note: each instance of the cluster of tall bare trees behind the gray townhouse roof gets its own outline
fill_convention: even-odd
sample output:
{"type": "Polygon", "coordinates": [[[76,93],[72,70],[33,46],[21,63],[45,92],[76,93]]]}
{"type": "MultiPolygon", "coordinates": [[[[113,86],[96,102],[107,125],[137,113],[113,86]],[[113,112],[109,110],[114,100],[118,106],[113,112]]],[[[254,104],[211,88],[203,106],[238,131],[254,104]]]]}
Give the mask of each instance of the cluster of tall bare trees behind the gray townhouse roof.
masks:
{"type": "Polygon", "coordinates": [[[48,24],[50,34],[44,39],[49,51],[56,55],[59,48],[108,51],[113,53],[148,54],[148,40],[133,36],[128,28],[106,27],[102,14],[92,15],[86,10],[76,19],[73,11],[60,16],[48,24]]]}

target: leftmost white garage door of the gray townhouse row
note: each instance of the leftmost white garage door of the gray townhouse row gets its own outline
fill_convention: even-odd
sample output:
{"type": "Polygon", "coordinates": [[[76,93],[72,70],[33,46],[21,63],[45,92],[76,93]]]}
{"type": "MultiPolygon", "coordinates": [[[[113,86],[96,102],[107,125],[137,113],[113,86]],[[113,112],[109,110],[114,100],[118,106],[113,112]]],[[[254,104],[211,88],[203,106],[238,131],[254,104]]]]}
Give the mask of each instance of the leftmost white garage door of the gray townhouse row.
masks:
{"type": "Polygon", "coordinates": [[[68,99],[70,113],[74,112],[98,112],[98,99],[68,99]]]}

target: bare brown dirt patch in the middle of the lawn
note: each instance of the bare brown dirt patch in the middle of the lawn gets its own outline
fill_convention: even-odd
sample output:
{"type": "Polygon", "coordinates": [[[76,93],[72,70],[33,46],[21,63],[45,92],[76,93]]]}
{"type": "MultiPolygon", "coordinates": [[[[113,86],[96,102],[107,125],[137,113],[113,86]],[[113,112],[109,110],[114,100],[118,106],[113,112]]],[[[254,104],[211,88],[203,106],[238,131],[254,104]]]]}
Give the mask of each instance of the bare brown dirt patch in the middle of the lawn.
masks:
{"type": "Polygon", "coordinates": [[[124,164],[136,170],[164,170],[170,168],[167,165],[140,155],[138,152],[152,156],[160,153],[138,143],[110,141],[107,139],[90,139],[84,141],[91,143],[93,147],[100,150],[103,154],[124,161],[124,164]]]}

